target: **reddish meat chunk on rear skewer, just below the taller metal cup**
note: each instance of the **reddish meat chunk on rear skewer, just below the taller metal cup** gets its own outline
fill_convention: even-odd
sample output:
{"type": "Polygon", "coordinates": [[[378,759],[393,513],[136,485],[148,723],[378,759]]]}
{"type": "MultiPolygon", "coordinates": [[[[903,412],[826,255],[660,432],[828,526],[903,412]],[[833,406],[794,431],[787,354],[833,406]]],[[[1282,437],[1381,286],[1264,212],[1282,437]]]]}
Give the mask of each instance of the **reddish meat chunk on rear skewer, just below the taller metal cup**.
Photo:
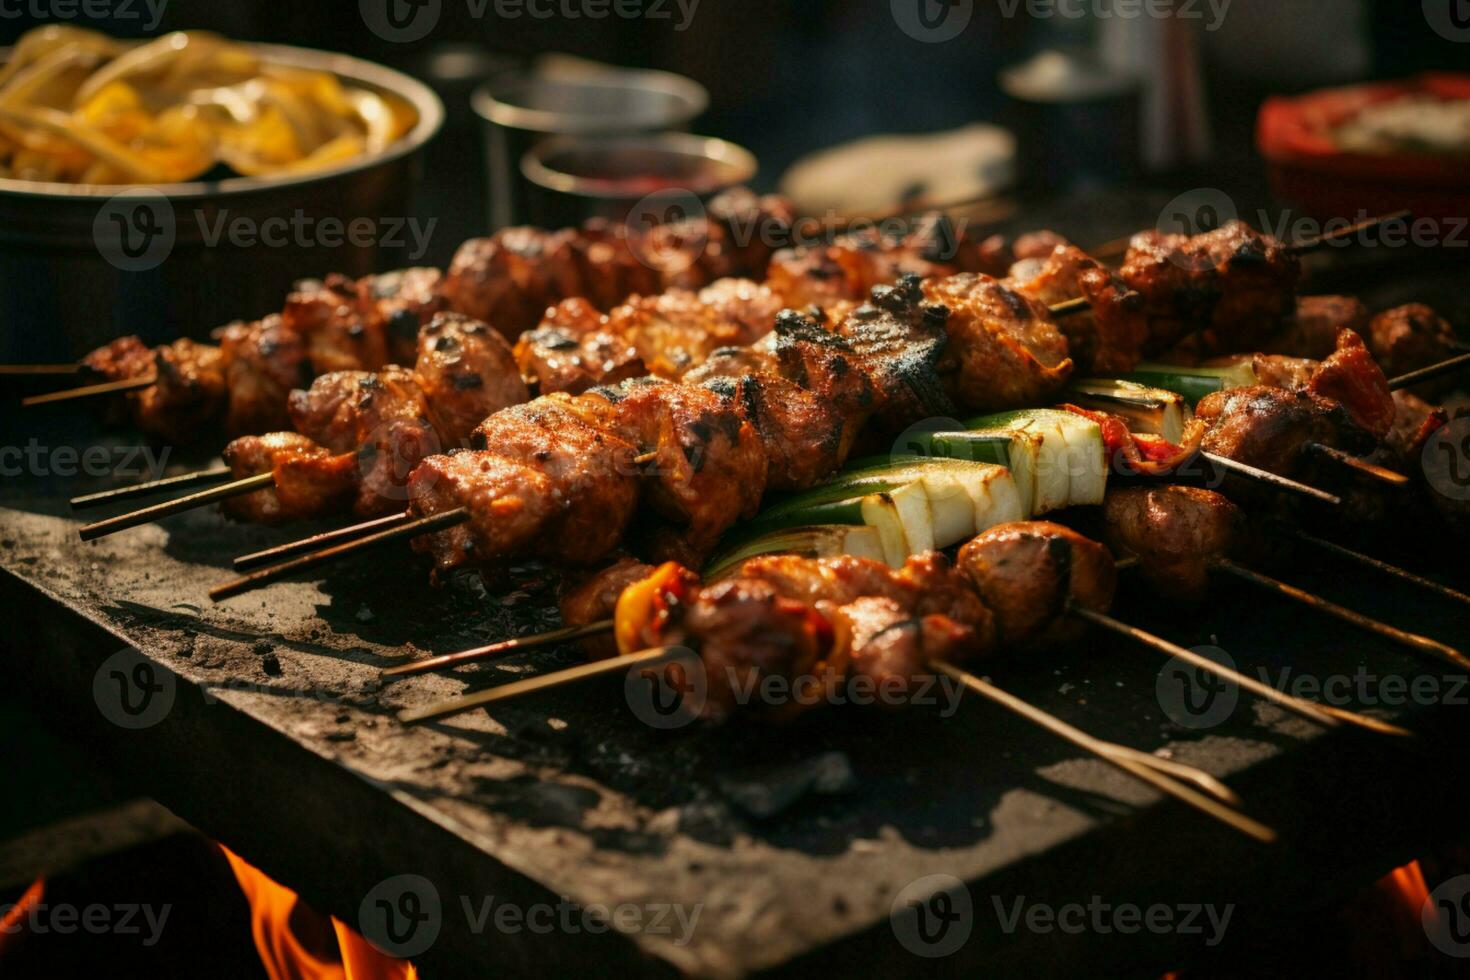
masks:
{"type": "Polygon", "coordinates": [[[576,232],[504,228],[460,245],[444,278],[448,309],[507,338],[529,331],[547,307],[584,292],[576,232]]]}

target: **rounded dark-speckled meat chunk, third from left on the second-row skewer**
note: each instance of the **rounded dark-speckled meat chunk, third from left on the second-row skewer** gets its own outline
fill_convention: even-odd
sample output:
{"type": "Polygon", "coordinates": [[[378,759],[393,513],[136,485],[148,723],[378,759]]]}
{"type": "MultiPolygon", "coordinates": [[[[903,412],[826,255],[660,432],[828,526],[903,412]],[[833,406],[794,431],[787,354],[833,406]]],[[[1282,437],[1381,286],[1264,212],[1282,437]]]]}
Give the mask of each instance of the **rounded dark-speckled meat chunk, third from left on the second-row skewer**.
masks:
{"type": "Polygon", "coordinates": [[[506,338],[459,313],[441,313],[419,332],[415,376],[450,447],[469,445],[475,426],[531,397],[506,338]]]}

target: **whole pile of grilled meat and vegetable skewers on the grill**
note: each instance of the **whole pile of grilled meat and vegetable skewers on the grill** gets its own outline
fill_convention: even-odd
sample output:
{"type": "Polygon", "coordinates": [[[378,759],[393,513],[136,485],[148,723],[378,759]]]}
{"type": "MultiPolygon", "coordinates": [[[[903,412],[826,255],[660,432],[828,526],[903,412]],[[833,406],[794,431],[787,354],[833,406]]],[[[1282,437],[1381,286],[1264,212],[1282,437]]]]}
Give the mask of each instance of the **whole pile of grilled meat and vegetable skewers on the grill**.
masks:
{"type": "MultiPolygon", "coordinates": [[[[620,657],[404,720],[653,664],[673,648],[694,651],[719,679],[864,676],[907,691],[939,671],[1258,837],[1267,829],[1202,773],[1164,773],[1158,760],[1100,743],[963,670],[1001,649],[1066,642],[1086,623],[1202,660],[1108,617],[1113,557],[1036,517],[1101,504],[1108,545],[1161,588],[1198,598],[1208,572],[1225,572],[1470,666],[1454,648],[1299,594],[1235,557],[1236,502],[1254,517],[1279,510],[1288,491],[1379,516],[1385,495],[1410,483],[1445,414],[1405,389],[1424,392],[1466,363],[1433,311],[1370,319],[1344,297],[1298,298],[1304,245],[1239,222],[1194,238],[1141,234],[1111,272],[1054,235],[970,242],[939,223],[906,239],[838,238],[753,256],[734,245],[729,216],[782,207],[735,200],[700,228],[663,232],[714,247],[666,270],[657,285],[673,288],[660,294],[644,292],[626,235],[522,229],[466,245],[442,279],[416,270],[392,288],[323,284],[331,300],[297,294],[281,317],[229,328],[276,332],[284,339],[268,344],[270,353],[294,344],[297,364],[309,363],[316,379],[290,395],[284,372],[260,382],[269,372],[250,364],[269,357],[259,342],[226,356],[226,331],[210,357],[240,379],[240,406],[253,410],[237,410],[237,383],[193,391],[228,406],[226,419],[287,417],[295,430],[231,442],[232,483],[90,525],[82,536],[210,500],[245,520],[348,505],[370,519],[247,555],[240,564],[288,560],[216,588],[215,598],[400,539],[429,554],[437,573],[528,555],[612,561],[567,597],[567,630],[390,673],[603,630],[620,657]],[[992,275],[998,266],[1008,275],[992,275]],[[748,270],[763,270],[764,282],[729,276],[748,270]],[[619,306],[629,285],[639,295],[619,306]],[[501,335],[532,325],[531,304],[545,313],[512,348],[501,335]],[[387,364],[394,322],[413,328],[394,334],[400,344],[416,334],[412,370],[387,364]],[[1260,353],[1232,354],[1252,348],[1260,353]],[[1402,375],[1389,382],[1380,363],[1402,375]],[[913,433],[914,423],[966,413],[991,414],[913,433]],[[851,457],[894,447],[900,432],[888,458],[844,472],[851,457]],[[1201,453],[1226,469],[1229,497],[1163,482],[1201,453]],[[939,550],[961,544],[951,566],[939,550]]],[[[126,344],[90,361],[137,361],[118,372],[144,372],[132,378],[147,381],[134,386],[141,423],[160,411],[154,403],[207,373],[171,361],[181,344],[151,354],[151,376],[126,344]]],[[[1402,735],[1230,676],[1320,724],[1402,735]]],[[[706,689],[698,713],[732,714],[731,691],[706,689]]]]}

